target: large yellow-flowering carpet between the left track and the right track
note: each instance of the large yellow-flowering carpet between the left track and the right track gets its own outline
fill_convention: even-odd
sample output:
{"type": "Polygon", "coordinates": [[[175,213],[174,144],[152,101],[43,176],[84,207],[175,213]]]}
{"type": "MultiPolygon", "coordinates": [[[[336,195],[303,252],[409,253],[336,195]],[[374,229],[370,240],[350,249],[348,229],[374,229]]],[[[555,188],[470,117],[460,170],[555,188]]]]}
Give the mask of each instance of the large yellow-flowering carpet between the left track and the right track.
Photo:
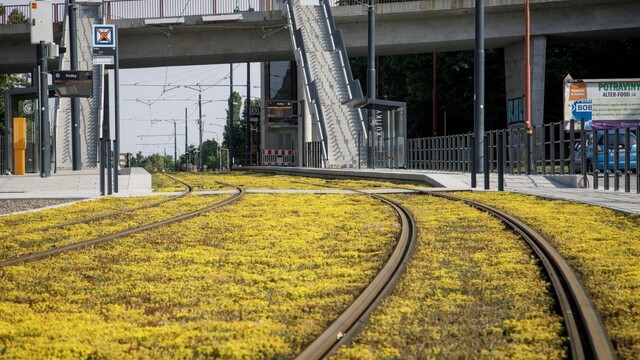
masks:
{"type": "Polygon", "coordinates": [[[363,195],[250,194],[189,221],[0,268],[7,358],[288,359],[392,251],[363,195]]]}

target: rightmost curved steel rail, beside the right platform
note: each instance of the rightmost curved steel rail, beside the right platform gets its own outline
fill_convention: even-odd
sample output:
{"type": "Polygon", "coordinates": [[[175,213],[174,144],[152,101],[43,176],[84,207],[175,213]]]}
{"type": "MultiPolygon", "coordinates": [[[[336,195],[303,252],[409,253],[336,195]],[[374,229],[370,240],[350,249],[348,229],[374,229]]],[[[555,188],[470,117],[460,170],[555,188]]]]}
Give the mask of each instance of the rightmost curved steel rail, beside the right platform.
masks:
{"type": "Polygon", "coordinates": [[[551,280],[569,335],[571,358],[615,359],[615,351],[589,295],[560,253],[524,222],[491,206],[455,196],[423,192],[485,211],[518,233],[540,259],[551,280]]]}

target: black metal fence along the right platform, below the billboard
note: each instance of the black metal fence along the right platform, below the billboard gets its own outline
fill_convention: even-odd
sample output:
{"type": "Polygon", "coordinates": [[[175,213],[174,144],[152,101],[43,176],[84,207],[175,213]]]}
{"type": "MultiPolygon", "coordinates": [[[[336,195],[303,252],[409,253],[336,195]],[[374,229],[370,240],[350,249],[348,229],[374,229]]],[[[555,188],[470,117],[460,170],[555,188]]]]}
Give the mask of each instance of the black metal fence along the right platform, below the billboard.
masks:
{"type": "MultiPolygon", "coordinates": [[[[488,131],[483,168],[510,175],[576,175],[582,187],[640,193],[637,136],[640,126],[585,130],[582,123],[551,123],[488,131]],[[605,150],[606,149],[606,150],[605,150]]],[[[410,139],[410,169],[472,172],[472,134],[410,139]]]]}

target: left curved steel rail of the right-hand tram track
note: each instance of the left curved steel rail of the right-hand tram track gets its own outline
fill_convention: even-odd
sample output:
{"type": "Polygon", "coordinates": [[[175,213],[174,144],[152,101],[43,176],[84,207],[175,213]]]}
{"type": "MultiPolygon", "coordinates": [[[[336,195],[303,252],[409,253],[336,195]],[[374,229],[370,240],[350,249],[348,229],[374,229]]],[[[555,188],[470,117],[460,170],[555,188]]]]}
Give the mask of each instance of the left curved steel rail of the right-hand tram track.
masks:
{"type": "Polygon", "coordinates": [[[349,342],[384,297],[393,291],[406,268],[417,239],[413,216],[402,205],[375,194],[367,194],[390,205],[398,214],[402,230],[393,253],[369,286],[354,300],[338,319],[313,340],[296,359],[322,359],[349,342]]]}

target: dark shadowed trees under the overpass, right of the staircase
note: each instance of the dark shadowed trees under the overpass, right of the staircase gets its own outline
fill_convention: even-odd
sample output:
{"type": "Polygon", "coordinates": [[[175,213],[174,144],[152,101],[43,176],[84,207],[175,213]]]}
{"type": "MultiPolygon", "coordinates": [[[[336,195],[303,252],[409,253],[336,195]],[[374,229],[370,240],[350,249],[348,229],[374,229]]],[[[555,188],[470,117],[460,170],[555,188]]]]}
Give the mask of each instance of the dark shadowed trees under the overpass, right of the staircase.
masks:
{"type": "MultiPolygon", "coordinates": [[[[545,68],[544,123],[563,116],[563,80],[637,78],[640,39],[550,43],[545,68]]],[[[432,131],[432,54],[383,56],[378,65],[377,98],[407,103],[408,138],[473,131],[473,51],[436,57],[437,134],[432,131]]],[[[507,127],[504,50],[485,51],[485,130],[507,127]]],[[[366,88],[367,59],[351,61],[354,77],[366,88]]]]}

